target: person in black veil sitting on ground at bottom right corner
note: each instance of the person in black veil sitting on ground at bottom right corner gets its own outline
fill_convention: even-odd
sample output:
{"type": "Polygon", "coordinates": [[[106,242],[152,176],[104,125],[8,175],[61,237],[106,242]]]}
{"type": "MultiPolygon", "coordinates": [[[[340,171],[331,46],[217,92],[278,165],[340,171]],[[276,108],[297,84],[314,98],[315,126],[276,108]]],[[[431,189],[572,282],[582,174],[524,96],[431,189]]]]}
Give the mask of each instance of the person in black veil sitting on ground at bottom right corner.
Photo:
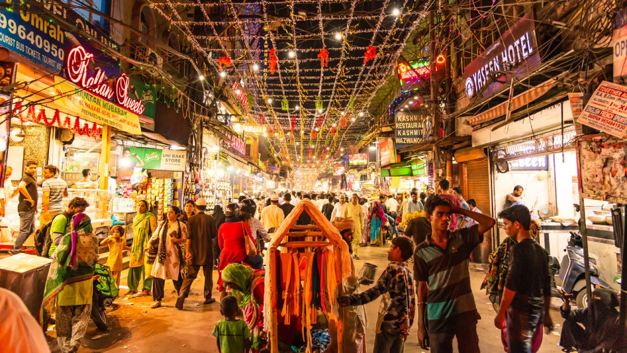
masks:
{"type": "Polygon", "coordinates": [[[580,353],[624,352],[627,337],[619,322],[616,293],[606,288],[595,288],[589,307],[576,310],[571,310],[571,296],[564,296],[564,304],[560,308],[562,317],[566,319],[559,339],[562,350],[580,353]]]}

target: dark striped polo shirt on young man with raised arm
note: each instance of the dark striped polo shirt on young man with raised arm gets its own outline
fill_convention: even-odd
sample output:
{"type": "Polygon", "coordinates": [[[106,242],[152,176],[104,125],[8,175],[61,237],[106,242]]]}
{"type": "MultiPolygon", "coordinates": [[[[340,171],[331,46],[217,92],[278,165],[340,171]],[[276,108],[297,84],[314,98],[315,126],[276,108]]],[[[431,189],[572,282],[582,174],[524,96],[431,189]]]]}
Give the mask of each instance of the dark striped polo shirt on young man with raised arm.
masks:
{"type": "Polygon", "coordinates": [[[426,281],[429,332],[447,332],[458,322],[478,320],[470,286],[470,253],[483,242],[479,226],[450,232],[446,249],[433,243],[431,234],[414,251],[414,279],[426,281]]]}

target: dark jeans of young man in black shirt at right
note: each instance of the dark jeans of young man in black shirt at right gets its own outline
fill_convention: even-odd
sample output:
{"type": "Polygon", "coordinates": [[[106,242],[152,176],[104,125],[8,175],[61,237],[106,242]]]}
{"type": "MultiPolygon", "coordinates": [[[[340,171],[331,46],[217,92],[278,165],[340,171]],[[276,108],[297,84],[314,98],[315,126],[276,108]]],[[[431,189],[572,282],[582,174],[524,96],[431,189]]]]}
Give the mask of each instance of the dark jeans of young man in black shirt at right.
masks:
{"type": "Polygon", "coordinates": [[[531,339],[535,328],[542,323],[544,312],[523,312],[507,309],[507,340],[510,353],[531,353],[531,339]]]}

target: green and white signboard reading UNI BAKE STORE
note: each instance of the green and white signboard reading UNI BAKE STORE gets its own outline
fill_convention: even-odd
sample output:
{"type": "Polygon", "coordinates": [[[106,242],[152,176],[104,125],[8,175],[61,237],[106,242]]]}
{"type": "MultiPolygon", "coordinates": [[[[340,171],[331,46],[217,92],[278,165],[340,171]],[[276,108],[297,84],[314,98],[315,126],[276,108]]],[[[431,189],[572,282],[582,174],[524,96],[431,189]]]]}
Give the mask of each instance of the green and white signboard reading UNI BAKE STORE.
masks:
{"type": "Polygon", "coordinates": [[[152,170],[185,171],[186,151],[158,148],[124,148],[121,167],[134,166],[152,170]],[[127,153],[126,151],[129,151],[127,153]],[[143,163],[143,165],[142,165],[143,163]]]}

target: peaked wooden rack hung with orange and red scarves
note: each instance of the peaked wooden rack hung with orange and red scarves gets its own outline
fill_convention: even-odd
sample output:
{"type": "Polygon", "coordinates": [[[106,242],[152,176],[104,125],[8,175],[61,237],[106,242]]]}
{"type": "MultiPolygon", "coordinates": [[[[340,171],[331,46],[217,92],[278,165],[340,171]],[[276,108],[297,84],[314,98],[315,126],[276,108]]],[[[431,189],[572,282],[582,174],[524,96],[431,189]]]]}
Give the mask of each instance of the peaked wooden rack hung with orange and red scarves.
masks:
{"type": "MultiPolygon", "coordinates": [[[[304,278],[304,281],[302,281],[302,283],[300,280],[296,281],[296,285],[298,285],[296,289],[299,291],[300,297],[298,298],[298,303],[292,303],[290,310],[300,313],[299,318],[303,323],[303,332],[306,332],[307,335],[307,352],[311,351],[310,345],[312,340],[310,326],[312,324],[312,318],[315,321],[313,313],[316,313],[316,310],[315,308],[308,308],[310,303],[312,303],[312,290],[314,287],[310,286],[308,288],[307,283],[311,283],[312,277],[315,276],[312,276],[312,262],[314,261],[312,258],[315,258],[315,253],[319,252],[319,249],[324,249],[322,251],[324,251],[325,258],[332,259],[333,261],[333,263],[325,261],[325,270],[317,274],[320,276],[319,280],[323,284],[320,287],[325,287],[329,290],[329,293],[325,293],[327,305],[330,305],[330,308],[326,308],[326,314],[327,320],[330,323],[333,322],[337,329],[335,337],[337,352],[344,353],[344,318],[342,315],[343,310],[337,303],[337,296],[342,294],[342,280],[348,278],[351,272],[348,245],[344,239],[342,239],[342,236],[340,236],[337,228],[327,220],[324,214],[322,214],[310,200],[306,199],[298,203],[285,218],[278,231],[275,232],[273,240],[268,246],[268,253],[265,258],[264,322],[265,330],[269,332],[268,339],[272,353],[278,353],[279,310],[277,309],[277,296],[280,288],[277,287],[279,284],[277,283],[277,274],[280,273],[278,271],[288,271],[288,276],[295,276],[297,269],[300,269],[298,272],[298,274],[300,274],[300,280],[304,278]],[[307,212],[314,222],[314,225],[294,225],[302,212],[307,212]],[[285,266],[279,259],[281,254],[291,258],[291,256],[287,255],[288,253],[292,254],[295,261],[294,264],[298,262],[298,265],[286,266],[288,269],[280,268],[281,266],[285,266]],[[301,266],[304,261],[307,261],[305,271],[303,271],[301,266]],[[329,274],[330,271],[326,270],[328,268],[333,268],[334,273],[329,274]],[[321,278],[323,273],[325,274],[325,278],[321,278]],[[324,281],[324,283],[322,281],[324,281]],[[307,315],[308,310],[311,315],[307,315]]],[[[285,293],[288,293],[290,288],[289,280],[287,283],[285,293]]],[[[293,285],[292,283],[292,286],[293,285]]],[[[320,288],[318,288],[318,290],[320,290],[320,288]]],[[[282,296],[282,298],[286,298],[284,302],[282,301],[282,307],[285,312],[285,306],[288,305],[287,300],[293,301],[293,296],[286,294],[282,296]]],[[[290,320],[289,317],[288,315],[287,320],[285,320],[286,322],[290,320]]]]}

